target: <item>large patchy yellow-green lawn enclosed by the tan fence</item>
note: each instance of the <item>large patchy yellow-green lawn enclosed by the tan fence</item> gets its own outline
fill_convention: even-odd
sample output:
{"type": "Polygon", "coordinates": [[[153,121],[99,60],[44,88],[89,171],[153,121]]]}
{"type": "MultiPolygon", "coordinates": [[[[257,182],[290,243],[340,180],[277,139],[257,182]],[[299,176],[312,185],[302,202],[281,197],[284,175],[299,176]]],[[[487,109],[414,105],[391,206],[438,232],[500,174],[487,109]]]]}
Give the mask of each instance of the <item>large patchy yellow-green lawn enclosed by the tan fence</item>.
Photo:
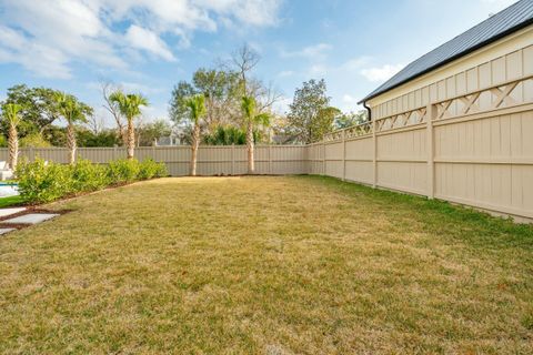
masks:
{"type": "Polygon", "coordinates": [[[533,353],[533,227],[329,178],[161,179],[0,237],[0,353],[533,353]]]}

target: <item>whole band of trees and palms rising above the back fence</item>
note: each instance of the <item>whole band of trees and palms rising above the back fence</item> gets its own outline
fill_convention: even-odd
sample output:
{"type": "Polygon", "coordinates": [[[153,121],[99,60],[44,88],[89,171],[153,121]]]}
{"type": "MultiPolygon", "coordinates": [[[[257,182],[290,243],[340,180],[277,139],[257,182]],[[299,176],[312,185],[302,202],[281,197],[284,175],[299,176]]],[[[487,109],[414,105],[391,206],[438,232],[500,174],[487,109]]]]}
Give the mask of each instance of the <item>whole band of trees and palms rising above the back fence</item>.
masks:
{"type": "Polygon", "coordinates": [[[67,146],[69,160],[74,161],[78,146],[119,145],[133,156],[135,146],[154,145],[173,134],[191,144],[194,154],[199,144],[245,144],[253,172],[257,143],[311,143],[366,120],[365,111],[343,113],[332,106],[323,79],[303,82],[288,112],[275,112],[283,97],[255,77],[259,62],[260,55],[244,44],[215,68],[200,68],[190,81],[179,81],[169,102],[170,121],[143,122],[141,108],[149,105],[145,97],[102,83],[102,106],[114,120],[112,128],[72,94],[14,85],[0,103],[0,146],[67,146]]]}

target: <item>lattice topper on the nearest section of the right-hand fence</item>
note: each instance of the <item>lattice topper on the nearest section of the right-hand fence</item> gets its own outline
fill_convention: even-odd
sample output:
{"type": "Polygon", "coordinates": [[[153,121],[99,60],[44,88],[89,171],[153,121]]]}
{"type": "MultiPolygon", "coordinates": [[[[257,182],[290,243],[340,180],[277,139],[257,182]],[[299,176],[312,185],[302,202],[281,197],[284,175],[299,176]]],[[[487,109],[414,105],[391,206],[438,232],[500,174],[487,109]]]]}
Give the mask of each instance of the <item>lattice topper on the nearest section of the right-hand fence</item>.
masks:
{"type": "Polygon", "coordinates": [[[486,112],[521,104],[526,101],[525,98],[521,97],[516,100],[512,94],[514,93],[519,97],[522,95],[520,92],[522,85],[520,84],[525,84],[526,81],[533,81],[533,75],[438,102],[435,103],[435,120],[456,118],[465,114],[486,112]],[[487,100],[487,104],[482,104],[483,98],[487,100]]]}

